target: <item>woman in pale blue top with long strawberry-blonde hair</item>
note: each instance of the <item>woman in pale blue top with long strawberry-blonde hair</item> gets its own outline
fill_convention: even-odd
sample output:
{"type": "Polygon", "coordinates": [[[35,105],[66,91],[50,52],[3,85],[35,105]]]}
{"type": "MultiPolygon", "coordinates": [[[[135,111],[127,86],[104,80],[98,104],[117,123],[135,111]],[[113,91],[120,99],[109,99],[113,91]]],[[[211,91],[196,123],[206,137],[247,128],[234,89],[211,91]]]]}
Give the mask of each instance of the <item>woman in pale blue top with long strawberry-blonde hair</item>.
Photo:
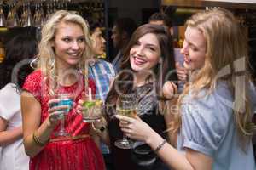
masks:
{"type": "Polygon", "coordinates": [[[247,43],[235,16],[213,8],[186,22],[182,54],[192,77],[179,96],[172,131],[177,149],[140,119],[117,116],[129,138],[142,140],[173,169],[255,169],[252,122],[256,92],[247,43]]]}

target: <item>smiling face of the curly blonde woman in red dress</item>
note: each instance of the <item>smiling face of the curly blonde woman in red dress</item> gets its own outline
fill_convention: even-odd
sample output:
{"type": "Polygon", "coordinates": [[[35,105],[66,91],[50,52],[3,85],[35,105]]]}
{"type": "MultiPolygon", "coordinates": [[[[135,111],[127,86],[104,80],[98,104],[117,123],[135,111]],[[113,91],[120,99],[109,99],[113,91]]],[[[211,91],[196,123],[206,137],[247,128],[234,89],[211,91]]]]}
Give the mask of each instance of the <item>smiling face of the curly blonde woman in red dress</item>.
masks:
{"type": "Polygon", "coordinates": [[[85,50],[84,32],[78,24],[61,22],[57,26],[53,48],[56,65],[70,68],[78,65],[85,50]]]}

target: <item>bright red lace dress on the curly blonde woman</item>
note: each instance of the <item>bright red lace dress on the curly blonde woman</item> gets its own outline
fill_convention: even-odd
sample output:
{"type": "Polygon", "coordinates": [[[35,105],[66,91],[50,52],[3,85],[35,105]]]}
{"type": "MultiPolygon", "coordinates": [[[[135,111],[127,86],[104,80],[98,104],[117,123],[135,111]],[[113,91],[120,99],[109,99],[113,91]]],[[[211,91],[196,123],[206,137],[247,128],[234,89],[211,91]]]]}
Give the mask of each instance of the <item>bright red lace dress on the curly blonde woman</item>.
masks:
{"type": "MultiPolygon", "coordinates": [[[[96,91],[95,83],[89,82],[93,93],[96,91]]],[[[41,123],[49,116],[49,86],[41,71],[34,71],[26,77],[23,89],[35,96],[41,104],[41,123]]],[[[81,93],[84,91],[84,78],[70,87],[59,87],[59,92],[73,93],[78,103],[81,99],[81,93]]],[[[76,105],[73,106],[75,108],[76,105]]],[[[82,122],[82,116],[77,114],[74,109],[68,112],[65,118],[65,130],[72,136],[78,136],[89,133],[90,124],[82,122]]],[[[54,133],[59,129],[55,127],[50,139],[55,139],[54,133]]],[[[90,137],[76,140],[61,140],[49,142],[45,145],[37,156],[30,160],[31,170],[103,170],[104,161],[101,151],[97,148],[95,142],[90,137]]]]}

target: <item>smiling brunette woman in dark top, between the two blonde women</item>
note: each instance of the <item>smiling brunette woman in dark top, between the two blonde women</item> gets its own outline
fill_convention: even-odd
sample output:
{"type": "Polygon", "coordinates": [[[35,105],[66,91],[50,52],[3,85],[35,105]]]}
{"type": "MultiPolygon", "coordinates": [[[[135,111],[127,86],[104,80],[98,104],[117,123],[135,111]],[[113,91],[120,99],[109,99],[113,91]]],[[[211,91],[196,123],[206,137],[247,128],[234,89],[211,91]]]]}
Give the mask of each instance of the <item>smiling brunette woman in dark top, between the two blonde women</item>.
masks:
{"type": "MultiPolygon", "coordinates": [[[[177,88],[170,82],[177,80],[176,71],[172,71],[175,69],[175,62],[170,47],[172,38],[166,27],[147,24],[137,28],[125,49],[122,71],[115,77],[105,101],[108,128],[102,131],[108,133],[115,169],[168,169],[145,143],[134,141],[133,149],[119,149],[114,142],[122,139],[123,133],[114,115],[117,114],[119,95],[135,93],[137,97],[134,100],[138,101],[137,115],[166,138],[165,117],[160,114],[159,107],[160,101],[166,99],[163,97],[163,83],[169,81],[171,94],[177,88]]],[[[107,126],[102,122],[94,125],[97,129],[107,126]]]]}

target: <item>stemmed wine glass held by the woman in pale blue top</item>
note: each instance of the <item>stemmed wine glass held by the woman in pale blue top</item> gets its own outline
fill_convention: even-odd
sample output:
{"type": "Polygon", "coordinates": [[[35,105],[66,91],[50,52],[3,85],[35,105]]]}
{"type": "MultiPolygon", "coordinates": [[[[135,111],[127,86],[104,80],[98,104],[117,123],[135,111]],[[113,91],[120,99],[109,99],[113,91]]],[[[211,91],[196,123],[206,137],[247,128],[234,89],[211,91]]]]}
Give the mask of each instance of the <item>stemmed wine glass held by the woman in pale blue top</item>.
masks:
{"type": "MultiPolygon", "coordinates": [[[[119,95],[116,103],[116,113],[121,116],[135,117],[137,115],[137,96],[136,94],[119,95]]],[[[120,149],[131,149],[133,144],[123,135],[123,139],[114,142],[120,149]]]]}

